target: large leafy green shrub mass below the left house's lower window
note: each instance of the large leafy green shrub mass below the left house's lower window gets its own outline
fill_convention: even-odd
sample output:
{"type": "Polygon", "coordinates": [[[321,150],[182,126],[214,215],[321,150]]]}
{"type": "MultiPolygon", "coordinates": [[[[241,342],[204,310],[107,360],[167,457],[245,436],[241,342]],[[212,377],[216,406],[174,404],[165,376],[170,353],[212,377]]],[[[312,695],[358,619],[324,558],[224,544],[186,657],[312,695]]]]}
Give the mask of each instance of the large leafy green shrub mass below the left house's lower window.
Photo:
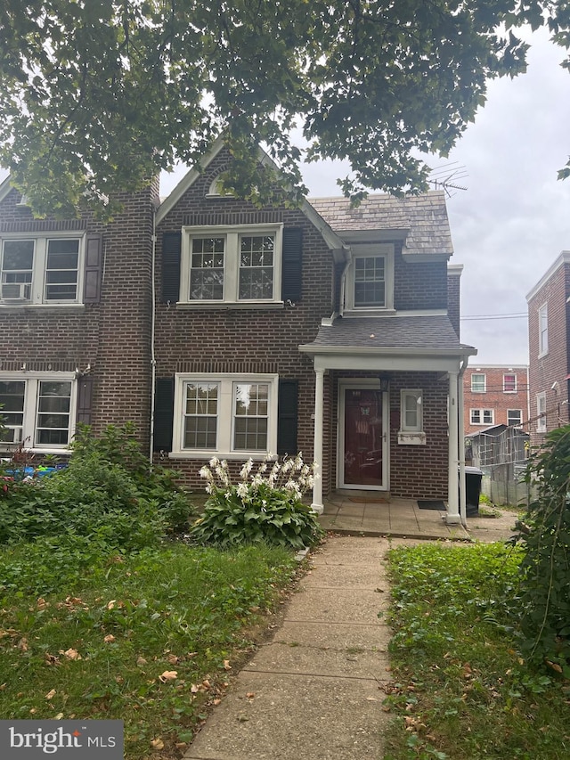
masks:
{"type": "Polygon", "coordinates": [[[0,542],[40,536],[92,537],[133,551],[186,530],[195,512],[169,470],[153,467],[132,437],[110,426],[102,437],[80,426],[69,466],[43,478],[4,480],[0,542]]]}

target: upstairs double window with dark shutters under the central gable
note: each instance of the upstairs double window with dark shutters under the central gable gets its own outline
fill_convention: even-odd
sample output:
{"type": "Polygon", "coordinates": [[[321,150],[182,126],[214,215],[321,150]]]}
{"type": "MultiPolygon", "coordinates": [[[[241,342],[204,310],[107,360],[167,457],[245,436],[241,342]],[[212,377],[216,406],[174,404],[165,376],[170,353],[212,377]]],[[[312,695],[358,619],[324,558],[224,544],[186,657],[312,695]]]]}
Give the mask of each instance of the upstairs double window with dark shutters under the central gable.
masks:
{"type": "Polygon", "coordinates": [[[281,249],[281,225],[185,227],[181,301],[281,301],[281,249]]]}

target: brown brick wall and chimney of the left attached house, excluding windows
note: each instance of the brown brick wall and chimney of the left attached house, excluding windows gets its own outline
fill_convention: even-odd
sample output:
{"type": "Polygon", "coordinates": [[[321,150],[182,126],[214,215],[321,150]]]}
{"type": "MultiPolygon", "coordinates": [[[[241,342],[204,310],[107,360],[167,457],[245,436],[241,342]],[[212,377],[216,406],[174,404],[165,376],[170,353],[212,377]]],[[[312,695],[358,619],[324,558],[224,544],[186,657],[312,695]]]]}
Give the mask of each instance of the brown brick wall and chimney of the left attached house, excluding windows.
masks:
{"type": "Polygon", "coordinates": [[[10,192],[0,203],[1,232],[102,233],[104,277],[100,303],[84,306],[13,306],[0,310],[2,369],[72,372],[91,364],[93,421],[134,421],[143,445],[149,441],[151,233],[158,183],[120,196],[122,213],[110,225],[80,220],[35,220],[10,192]]]}

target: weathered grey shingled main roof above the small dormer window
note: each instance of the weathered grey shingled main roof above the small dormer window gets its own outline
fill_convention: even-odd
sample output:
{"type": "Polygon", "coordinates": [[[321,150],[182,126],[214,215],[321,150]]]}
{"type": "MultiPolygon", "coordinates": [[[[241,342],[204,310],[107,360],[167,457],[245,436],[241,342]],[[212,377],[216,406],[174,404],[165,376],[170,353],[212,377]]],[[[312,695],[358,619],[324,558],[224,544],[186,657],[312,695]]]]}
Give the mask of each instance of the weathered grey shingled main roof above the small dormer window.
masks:
{"type": "Polygon", "coordinates": [[[453,253],[443,191],[404,198],[369,195],[357,208],[347,198],[312,198],[309,203],[340,237],[363,230],[403,231],[407,254],[453,253]]]}

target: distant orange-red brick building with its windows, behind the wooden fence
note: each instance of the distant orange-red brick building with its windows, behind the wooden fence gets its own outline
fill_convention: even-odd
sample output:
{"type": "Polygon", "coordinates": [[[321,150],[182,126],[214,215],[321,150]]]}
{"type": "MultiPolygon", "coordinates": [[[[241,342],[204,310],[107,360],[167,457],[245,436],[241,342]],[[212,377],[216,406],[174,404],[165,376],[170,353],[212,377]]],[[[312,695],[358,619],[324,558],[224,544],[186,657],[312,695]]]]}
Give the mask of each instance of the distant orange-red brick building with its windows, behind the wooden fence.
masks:
{"type": "Polygon", "coordinates": [[[465,432],[493,425],[525,426],[528,421],[526,364],[475,364],[463,375],[465,432]]]}

